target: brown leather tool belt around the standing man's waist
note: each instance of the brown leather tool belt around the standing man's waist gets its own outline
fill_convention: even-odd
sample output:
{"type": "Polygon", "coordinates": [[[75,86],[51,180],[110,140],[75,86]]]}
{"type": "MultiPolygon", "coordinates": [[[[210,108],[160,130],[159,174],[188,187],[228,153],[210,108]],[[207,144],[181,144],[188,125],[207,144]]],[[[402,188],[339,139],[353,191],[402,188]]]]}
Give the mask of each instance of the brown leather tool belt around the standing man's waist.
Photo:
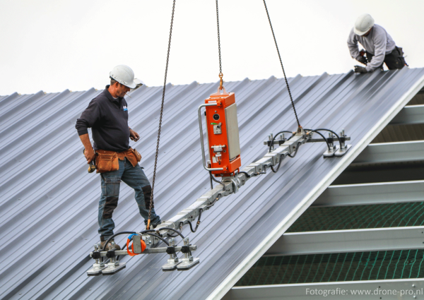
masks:
{"type": "Polygon", "coordinates": [[[139,151],[129,148],[126,151],[114,152],[107,150],[95,150],[95,168],[97,173],[105,173],[119,170],[119,160],[126,157],[133,167],[141,160],[139,151]]]}

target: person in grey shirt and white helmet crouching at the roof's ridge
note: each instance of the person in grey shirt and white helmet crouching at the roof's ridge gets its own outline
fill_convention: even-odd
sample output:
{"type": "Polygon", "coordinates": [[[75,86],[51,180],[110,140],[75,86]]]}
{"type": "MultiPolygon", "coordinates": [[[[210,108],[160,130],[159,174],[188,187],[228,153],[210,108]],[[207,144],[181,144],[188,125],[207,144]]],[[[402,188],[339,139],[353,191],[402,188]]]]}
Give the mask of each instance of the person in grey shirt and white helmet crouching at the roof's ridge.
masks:
{"type": "Polygon", "coordinates": [[[382,26],[374,23],[374,19],[367,13],[363,13],[355,22],[348,38],[348,47],[353,59],[363,66],[355,66],[355,73],[367,73],[383,68],[385,63],[389,70],[408,66],[404,59],[402,48],[396,47],[394,40],[382,26]],[[365,48],[359,52],[358,42],[365,48]]]}

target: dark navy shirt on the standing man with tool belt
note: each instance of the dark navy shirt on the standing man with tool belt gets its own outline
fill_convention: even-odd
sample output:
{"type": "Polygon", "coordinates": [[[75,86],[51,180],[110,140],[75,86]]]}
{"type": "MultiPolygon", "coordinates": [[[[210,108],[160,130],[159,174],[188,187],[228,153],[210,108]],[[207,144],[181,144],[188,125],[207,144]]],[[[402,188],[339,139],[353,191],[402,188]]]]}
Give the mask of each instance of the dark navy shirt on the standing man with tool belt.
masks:
{"type": "Polygon", "coordinates": [[[91,100],[81,117],[76,120],[78,135],[91,128],[94,150],[121,152],[129,149],[128,109],[125,99],[114,99],[106,85],[100,95],[91,100]]]}

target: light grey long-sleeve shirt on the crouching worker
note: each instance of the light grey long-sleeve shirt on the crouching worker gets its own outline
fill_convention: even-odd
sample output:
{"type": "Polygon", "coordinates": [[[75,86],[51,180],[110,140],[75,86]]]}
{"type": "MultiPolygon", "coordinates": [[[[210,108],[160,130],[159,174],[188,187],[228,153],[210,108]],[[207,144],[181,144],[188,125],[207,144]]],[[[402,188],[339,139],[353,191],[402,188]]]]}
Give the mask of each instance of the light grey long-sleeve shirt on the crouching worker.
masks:
{"type": "Polygon", "coordinates": [[[368,72],[379,68],[379,66],[384,63],[384,57],[386,54],[391,53],[394,50],[394,47],[396,47],[396,44],[389,33],[377,24],[372,27],[372,30],[367,37],[356,35],[352,28],[348,38],[348,47],[352,58],[357,60],[360,57],[358,42],[363,45],[367,52],[374,54],[371,61],[369,61],[365,67],[368,72]]]}

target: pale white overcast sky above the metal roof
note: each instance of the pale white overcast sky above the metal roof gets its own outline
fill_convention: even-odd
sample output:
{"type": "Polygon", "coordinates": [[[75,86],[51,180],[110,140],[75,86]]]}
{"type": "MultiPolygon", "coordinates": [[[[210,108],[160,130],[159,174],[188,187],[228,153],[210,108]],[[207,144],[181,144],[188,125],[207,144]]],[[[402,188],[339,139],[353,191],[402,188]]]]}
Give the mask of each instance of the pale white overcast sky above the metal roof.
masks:
{"type": "MultiPolygon", "coordinates": [[[[172,1],[0,0],[0,95],[102,89],[117,64],[147,85],[163,85],[172,1]]],[[[346,45],[370,13],[424,66],[422,0],[267,0],[288,76],[346,73],[346,45]]],[[[261,0],[220,0],[224,80],[283,76],[261,0]]],[[[168,82],[218,81],[213,0],[177,0],[168,82]]]]}

